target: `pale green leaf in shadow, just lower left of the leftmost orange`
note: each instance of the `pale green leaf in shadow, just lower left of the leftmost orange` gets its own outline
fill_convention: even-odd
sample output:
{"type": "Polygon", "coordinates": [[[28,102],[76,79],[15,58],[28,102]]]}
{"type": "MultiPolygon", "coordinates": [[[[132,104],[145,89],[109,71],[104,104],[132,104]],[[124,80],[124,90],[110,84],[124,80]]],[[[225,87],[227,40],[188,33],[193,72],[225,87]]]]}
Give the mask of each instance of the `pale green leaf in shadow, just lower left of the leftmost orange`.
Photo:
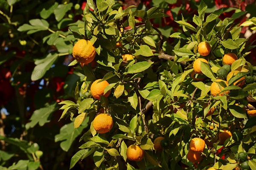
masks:
{"type": "Polygon", "coordinates": [[[46,58],[36,60],[35,61],[35,68],[32,71],[31,80],[37,81],[43,78],[44,74],[51,68],[52,64],[57,60],[58,54],[51,54],[49,53],[46,58]]]}

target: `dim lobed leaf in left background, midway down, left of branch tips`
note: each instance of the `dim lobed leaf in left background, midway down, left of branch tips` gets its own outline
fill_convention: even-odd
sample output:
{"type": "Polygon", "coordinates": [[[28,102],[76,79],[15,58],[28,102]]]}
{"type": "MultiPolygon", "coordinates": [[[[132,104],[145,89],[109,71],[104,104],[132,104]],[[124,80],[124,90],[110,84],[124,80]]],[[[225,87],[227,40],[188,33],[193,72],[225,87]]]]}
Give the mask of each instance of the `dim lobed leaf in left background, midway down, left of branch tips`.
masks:
{"type": "Polygon", "coordinates": [[[26,124],[26,129],[35,127],[36,124],[43,126],[44,124],[50,122],[50,117],[53,112],[58,109],[57,104],[45,104],[45,107],[37,109],[33,112],[30,122],[26,124]]]}

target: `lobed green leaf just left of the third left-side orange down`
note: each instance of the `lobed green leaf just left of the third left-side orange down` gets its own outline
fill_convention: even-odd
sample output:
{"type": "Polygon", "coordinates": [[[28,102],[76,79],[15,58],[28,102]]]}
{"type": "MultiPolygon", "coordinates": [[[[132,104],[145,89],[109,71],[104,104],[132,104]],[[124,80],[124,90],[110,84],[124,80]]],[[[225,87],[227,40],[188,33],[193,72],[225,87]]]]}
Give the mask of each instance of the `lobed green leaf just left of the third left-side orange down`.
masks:
{"type": "Polygon", "coordinates": [[[88,120],[89,118],[87,117],[81,126],[76,129],[74,129],[74,122],[65,124],[63,127],[61,127],[60,133],[55,135],[55,142],[61,141],[62,150],[67,152],[70,149],[76,137],[81,135],[84,128],[88,126],[88,120]]]}

